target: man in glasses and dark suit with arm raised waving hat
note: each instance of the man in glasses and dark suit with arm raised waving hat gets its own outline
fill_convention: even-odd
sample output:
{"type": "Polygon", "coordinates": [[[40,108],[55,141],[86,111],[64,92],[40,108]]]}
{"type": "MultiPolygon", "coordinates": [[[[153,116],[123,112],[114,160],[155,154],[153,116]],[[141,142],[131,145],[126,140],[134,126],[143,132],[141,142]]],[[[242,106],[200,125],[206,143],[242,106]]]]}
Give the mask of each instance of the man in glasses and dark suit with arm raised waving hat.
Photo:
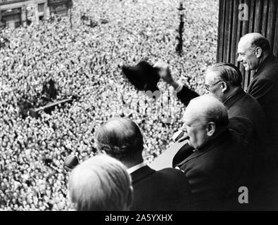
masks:
{"type": "MultiPolygon", "coordinates": [[[[177,90],[177,97],[184,104],[187,105],[192,98],[198,96],[195,91],[172,79],[168,65],[157,63],[155,66],[160,68],[160,77],[177,90]]],[[[236,131],[242,139],[249,143],[250,148],[243,150],[248,151],[244,172],[246,173],[245,177],[249,178],[250,192],[252,195],[263,196],[263,192],[274,184],[276,168],[272,162],[270,150],[267,148],[269,137],[265,113],[258,101],[241,88],[241,82],[241,72],[230,63],[217,63],[206,71],[206,89],[226,106],[229,116],[228,128],[236,131]]],[[[192,151],[193,149],[189,145],[183,146],[172,160],[173,167],[191,155],[192,151]]],[[[269,192],[274,193],[273,191],[269,192]]],[[[258,200],[258,204],[267,205],[269,200],[266,199],[261,198],[258,200]],[[264,204],[263,201],[267,202],[264,204]]]]}

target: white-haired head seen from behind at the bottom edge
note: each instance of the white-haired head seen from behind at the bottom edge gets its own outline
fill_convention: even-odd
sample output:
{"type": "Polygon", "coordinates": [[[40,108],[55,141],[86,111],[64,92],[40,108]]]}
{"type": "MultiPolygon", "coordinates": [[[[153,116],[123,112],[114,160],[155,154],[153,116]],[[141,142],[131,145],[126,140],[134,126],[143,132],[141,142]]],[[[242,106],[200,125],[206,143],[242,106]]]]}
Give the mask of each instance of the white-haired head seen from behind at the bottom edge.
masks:
{"type": "Polygon", "coordinates": [[[78,211],[129,210],[132,180],[122,162],[96,155],[72,170],[68,193],[78,211]]]}

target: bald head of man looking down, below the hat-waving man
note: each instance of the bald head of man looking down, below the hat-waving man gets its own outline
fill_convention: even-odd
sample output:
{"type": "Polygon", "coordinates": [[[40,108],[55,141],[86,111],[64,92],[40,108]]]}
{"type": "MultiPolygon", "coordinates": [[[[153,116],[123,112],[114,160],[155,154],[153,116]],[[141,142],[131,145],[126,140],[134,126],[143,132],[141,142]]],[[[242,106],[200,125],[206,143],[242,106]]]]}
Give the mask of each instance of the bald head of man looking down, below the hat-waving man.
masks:
{"type": "Polygon", "coordinates": [[[189,146],[201,148],[222,134],[229,124],[227,109],[212,95],[203,95],[190,101],[184,113],[184,131],[189,146]]]}

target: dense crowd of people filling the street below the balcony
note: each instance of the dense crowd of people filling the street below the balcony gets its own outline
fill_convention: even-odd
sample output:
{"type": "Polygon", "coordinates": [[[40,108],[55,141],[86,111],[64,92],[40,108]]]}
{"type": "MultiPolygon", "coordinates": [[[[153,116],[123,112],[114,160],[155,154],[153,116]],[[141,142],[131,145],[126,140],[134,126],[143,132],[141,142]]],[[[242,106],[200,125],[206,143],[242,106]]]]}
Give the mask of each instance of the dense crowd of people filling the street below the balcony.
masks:
{"type": "Polygon", "coordinates": [[[72,25],[69,17],[55,16],[39,26],[1,31],[7,41],[0,49],[0,210],[68,210],[63,160],[94,155],[95,131],[111,117],[139,124],[147,162],[168,148],[184,105],[163,82],[153,103],[120,66],[168,61],[173,76],[203,94],[203,72],[215,63],[217,1],[184,1],[182,56],[175,51],[178,6],[176,0],[74,1],[72,25]],[[97,25],[90,27],[82,15],[97,25]],[[37,101],[49,79],[58,99],[77,100],[23,119],[20,101],[37,101]]]}

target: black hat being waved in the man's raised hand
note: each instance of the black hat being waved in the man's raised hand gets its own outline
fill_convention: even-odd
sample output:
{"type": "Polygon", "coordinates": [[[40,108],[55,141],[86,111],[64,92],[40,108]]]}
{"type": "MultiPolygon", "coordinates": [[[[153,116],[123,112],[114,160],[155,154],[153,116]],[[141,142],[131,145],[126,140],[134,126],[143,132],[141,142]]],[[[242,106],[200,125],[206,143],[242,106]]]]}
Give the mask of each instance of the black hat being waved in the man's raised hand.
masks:
{"type": "Polygon", "coordinates": [[[146,61],[141,61],[135,66],[122,66],[122,72],[129,82],[140,91],[157,91],[160,79],[158,70],[146,61]]]}

